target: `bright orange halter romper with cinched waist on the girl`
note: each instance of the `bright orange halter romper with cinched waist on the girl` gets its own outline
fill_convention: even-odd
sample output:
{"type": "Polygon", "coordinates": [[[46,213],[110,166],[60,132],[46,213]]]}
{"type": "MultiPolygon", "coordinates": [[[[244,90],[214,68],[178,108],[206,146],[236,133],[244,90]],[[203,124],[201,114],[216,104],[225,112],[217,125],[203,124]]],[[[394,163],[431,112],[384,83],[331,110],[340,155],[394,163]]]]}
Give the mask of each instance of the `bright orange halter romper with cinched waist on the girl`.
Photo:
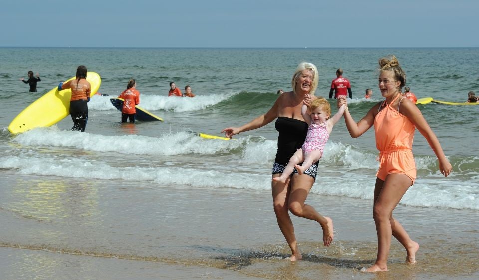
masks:
{"type": "Polygon", "coordinates": [[[398,110],[392,108],[386,100],[379,108],[385,103],[386,106],[374,118],[376,148],[379,150],[379,170],[376,177],[384,181],[388,174],[405,174],[414,184],[416,163],[412,146],[416,127],[398,112],[401,101],[398,110]]]}

